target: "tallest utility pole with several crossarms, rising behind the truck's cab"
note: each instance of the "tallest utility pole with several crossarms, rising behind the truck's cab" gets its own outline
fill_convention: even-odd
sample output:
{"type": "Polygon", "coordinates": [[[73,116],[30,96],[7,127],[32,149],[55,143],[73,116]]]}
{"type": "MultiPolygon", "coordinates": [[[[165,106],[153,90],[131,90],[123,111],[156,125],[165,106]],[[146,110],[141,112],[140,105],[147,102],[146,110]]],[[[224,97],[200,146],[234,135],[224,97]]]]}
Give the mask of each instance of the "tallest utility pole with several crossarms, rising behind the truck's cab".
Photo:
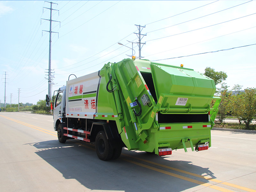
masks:
{"type": "MultiPolygon", "coordinates": [[[[52,31],[52,10],[54,11],[59,11],[59,10],[56,10],[56,9],[52,9],[52,4],[57,4],[57,3],[52,3],[52,2],[48,2],[48,1],[44,1],[44,2],[47,2],[47,3],[50,3],[51,4],[51,8],[47,8],[47,7],[43,7],[43,12],[44,12],[44,8],[45,9],[50,9],[50,20],[49,19],[43,19],[43,20],[48,20],[50,21],[50,30],[49,31],[46,31],[46,32],[49,32],[50,33],[50,40],[49,40],[49,69],[48,69],[48,94],[50,95],[50,97],[52,98],[51,96],[51,88],[52,88],[52,78],[51,78],[51,48],[52,48],[52,33],[58,33],[58,32],[53,32],[52,31]]],[[[41,19],[42,20],[42,19],[41,19]]],[[[55,22],[60,22],[60,21],[55,21],[55,22]]],[[[45,31],[45,30],[43,30],[45,31]]],[[[42,35],[43,35],[43,31],[42,31],[42,35]]],[[[59,33],[58,33],[59,34],[59,33]]]]}

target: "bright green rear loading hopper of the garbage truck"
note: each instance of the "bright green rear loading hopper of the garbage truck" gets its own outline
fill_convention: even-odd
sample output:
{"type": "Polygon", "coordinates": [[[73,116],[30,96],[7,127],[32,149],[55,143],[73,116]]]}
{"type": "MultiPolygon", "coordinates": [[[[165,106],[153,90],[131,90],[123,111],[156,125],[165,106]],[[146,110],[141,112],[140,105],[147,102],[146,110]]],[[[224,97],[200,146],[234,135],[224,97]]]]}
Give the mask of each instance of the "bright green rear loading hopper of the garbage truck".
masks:
{"type": "MultiPolygon", "coordinates": [[[[131,149],[163,154],[159,152],[211,147],[210,131],[220,103],[220,98],[213,96],[216,87],[212,79],[192,69],[147,60],[123,60],[116,68],[117,82],[125,84],[120,87],[128,110],[138,113],[141,108],[140,116],[130,113],[131,121],[125,122],[122,130],[126,135],[134,132],[132,140],[127,139],[131,149]],[[212,100],[216,102],[210,108],[212,100]],[[134,101],[141,107],[131,107],[134,101]]],[[[126,138],[123,140],[125,143],[126,138]]]]}

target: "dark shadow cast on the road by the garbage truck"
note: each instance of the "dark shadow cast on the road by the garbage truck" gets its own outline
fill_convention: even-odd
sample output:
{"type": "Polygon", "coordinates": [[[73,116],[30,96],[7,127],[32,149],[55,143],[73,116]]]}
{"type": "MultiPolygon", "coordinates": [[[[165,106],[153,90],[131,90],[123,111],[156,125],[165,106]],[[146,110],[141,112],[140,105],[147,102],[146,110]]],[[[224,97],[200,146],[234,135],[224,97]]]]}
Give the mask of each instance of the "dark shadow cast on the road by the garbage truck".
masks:
{"type": "Polygon", "coordinates": [[[145,152],[138,153],[123,149],[119,159],[106,162],[98,159],[92,144],[78,140],[67,140],[65,144],[59,143],[58,140],[28,144],[36,147],[35,153],[62,173],[65,179],[75,179],[91,190],[179,192],[199,186],[199,184],[172,177],[164,174],[164,172],[171,172],[201,182],[209,182],[140,159],[214,178],[209,168],[191,164],[190,161],[170,161],[164,159],[164,157],[146,154],[145,152]],[[140,164],[146,165],[146,168],[140,164]],[[150,170],[147,166],[157,168],[163,172],[150,170]]]}

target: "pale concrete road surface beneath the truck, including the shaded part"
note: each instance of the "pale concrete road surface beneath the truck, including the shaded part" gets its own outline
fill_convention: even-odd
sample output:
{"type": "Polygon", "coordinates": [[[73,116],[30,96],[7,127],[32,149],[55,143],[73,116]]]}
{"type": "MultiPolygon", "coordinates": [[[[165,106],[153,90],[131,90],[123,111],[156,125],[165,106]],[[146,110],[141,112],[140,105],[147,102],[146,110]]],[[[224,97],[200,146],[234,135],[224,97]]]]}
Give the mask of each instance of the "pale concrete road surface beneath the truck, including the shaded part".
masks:
{"type": "Polygon", "coordinates": [[[59,143],[52,116],[0,113],[0,191],[256,192],[256,134],[212,130],[212,147],[159,157],[123,149],[98,159],[80,140],[59,143]]]}

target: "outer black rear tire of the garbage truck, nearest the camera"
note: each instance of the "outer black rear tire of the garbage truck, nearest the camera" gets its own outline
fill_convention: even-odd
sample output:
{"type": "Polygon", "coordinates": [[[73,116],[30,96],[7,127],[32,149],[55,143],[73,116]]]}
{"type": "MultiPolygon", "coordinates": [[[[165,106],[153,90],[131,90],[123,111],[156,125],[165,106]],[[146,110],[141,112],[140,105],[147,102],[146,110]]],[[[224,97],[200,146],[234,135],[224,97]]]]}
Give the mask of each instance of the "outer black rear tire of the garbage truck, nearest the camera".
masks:
{"type": "Polygon", "coordinates": [[[113,148],[109,143],[106,133],[104,131],[100,131],[97,133],[95,139],[95,148],[99,159],[103,161],[108,161],[112,158],[113,148]]]}

